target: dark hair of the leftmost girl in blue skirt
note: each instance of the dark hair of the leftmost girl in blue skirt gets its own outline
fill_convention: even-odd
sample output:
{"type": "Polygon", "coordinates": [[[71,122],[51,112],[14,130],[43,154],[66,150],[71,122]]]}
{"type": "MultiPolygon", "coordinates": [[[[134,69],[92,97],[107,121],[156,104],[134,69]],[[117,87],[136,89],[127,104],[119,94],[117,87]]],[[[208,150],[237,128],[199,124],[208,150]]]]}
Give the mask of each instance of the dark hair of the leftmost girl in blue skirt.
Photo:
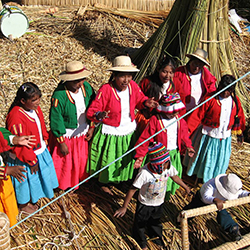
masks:
{"type": "Polygon", "coordinates": [[[15,107],[21,106],[21,100],[24,99],[27,101],[28,99],[33,98],[35,95],[39,97],[42,96],[41,90],[38,88],[36,84],[33,82],[25,82],[23,83],[17,90],[16,97],[12,102],[8,113],[15,107]]]}

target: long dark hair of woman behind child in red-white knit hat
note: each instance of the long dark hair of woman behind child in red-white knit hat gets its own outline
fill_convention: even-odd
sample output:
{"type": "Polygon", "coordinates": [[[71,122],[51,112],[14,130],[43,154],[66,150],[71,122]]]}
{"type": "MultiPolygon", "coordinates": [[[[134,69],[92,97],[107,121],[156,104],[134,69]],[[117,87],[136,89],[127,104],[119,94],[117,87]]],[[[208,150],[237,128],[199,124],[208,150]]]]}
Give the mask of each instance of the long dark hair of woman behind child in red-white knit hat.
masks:
{"type": "MultiPolygon", "coordinates": [[[[159,100],[159,93],[161,92],[161,88],[163,86],[163,83],[160,80],[159,77],[159,71],[161,69],[164,69],[166,66],[172,67],[173,72],[175,71],[176,64],[175,61],[171,57],[165,57],[157,66],[155,72],[148,76],[148,79],[150,80],[147,89],[144,90],[144,94],[148,97],[154,97],[156,100],[159,100]]],[[[174,83],[172,80],[170,80],[170,84],[172,85],[172,88],[175,89],[174,83]]],[[[174,91],[173,91],[174,92],[174,91]]]]}

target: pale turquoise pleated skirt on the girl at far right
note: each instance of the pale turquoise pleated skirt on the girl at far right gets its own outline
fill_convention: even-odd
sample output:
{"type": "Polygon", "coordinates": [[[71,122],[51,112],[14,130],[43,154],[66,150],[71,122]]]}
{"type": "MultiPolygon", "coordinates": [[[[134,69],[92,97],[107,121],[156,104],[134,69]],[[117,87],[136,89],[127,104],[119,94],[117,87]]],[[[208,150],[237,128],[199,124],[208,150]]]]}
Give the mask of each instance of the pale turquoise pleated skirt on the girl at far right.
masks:
{"type": "Polygon", "coordinates": [[[197,178],[202,178],[205,183],[219,174],[226,173],[231,155],[231,136],[226,139],[212,138],[201,134],[199,129],[192,141],[197,153],[194,159],[187,155],[184,158],[184,164],[188,163],[185,164],[188,167],[187,175],[197,175],[197,178]]]}

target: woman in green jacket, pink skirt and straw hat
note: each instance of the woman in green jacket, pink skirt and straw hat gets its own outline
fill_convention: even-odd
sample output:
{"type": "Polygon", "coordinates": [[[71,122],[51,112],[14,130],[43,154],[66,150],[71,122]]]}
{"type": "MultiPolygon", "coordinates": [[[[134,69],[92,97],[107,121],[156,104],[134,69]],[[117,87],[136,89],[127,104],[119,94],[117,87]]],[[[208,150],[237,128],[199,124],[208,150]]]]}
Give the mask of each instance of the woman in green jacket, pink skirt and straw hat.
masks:
{"type": "Polygon", "coordinates": [[[88,177],[88,141],[94,132],[94,126],[89,127],[86,120],[86,109],[94,98],[92,87],[85,81],[90,74],[81,62],[67,63],[52,95],[49,145],[63,190],[88,177]]]}

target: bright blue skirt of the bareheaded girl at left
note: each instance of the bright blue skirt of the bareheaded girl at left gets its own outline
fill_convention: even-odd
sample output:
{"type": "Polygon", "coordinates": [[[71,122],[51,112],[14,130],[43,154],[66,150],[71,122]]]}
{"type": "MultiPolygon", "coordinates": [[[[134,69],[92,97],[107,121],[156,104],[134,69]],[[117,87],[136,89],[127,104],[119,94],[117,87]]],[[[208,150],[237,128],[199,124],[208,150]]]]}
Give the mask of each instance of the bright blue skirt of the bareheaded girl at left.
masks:
{"type": "Polygon", "coordinates": [[[24,166],[27,171],[27,173],[23,172],[26,179],[21,183],[16,178],[11,177],[18,204],[36,203],[43,197],[53,198],[53,189],[58,187],[56,171],[48,149],[46,148],[43,153],[37,155],[37,159],[39,171],[36,174],[31,174],[29,165],[18,158],[13,160],[9,157],[8,159],[9,167],[24,166]]]}

